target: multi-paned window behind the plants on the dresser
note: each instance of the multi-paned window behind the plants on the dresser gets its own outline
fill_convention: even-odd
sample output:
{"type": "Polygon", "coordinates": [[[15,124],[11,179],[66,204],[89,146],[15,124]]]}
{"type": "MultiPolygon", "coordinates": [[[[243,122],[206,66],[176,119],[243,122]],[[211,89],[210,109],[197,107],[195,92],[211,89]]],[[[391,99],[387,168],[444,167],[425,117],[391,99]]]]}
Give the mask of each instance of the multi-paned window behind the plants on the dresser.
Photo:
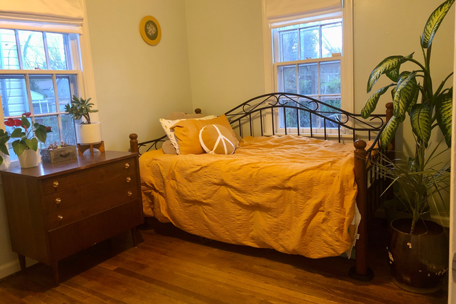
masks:
{"type": "MultiPolygon", "coordinates": [[[[73,95],[80,95],[79,54],[76,34],[0,29],[3,117],[30,112],[32,122],[51,126],[53,132],[40,149],[53,142],[76,143],[73,120],[64,115],[64,108],[73,95]]],[[[11,146],[10,159],[17,159],[11,146]]]]}

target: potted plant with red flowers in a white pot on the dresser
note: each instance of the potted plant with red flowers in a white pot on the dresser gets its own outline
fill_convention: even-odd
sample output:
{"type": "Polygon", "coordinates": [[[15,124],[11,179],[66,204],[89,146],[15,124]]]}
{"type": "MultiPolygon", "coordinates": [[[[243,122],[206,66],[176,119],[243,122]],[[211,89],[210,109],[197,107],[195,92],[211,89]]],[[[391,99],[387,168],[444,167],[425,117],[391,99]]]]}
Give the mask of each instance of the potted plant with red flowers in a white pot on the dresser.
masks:
{"type": "MultiPolygon", "coordinates": [[[[28,121],[30,112],[23,113],[20,120],[8,118],[5,121],[6,126],[11,126],[13,131],[11,134],[1,130],[0,131],[0,151],[9,155],[6,142],[11,138],[17,138],[12,142],[12,150],[15,151],[19,158],[19,164],[22,168],[36,167],[38,165],[37,149],[38,140],[46,142],[47,133],[52,132],[50,126],[35,123],[32,128],[28,121]]],[[[3,162],[3,158],[1,158],[3,162]]],[[[1,164],[0,162],[0,164],[1,164]]]]}

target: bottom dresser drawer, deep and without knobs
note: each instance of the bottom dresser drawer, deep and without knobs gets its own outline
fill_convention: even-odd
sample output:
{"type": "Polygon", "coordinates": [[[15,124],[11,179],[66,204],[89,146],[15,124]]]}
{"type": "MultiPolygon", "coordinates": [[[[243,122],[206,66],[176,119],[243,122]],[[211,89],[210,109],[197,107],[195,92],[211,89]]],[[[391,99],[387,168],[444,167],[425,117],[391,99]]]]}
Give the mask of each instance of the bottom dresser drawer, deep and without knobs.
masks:
{"type": "Polygon", "coordinates": [[[48,231],[50,251],[55,260],[86,249],[142,223],[139,198],[97,213],[72,224],[48,231]]]}

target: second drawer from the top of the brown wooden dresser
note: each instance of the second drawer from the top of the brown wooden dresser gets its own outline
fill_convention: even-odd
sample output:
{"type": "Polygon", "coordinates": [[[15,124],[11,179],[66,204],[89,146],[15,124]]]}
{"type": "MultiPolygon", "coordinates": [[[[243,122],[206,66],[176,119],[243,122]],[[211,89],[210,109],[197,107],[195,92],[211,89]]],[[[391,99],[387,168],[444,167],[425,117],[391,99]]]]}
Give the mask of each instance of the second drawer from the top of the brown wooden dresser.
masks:
{"type": "Polygon", "coordinates": [[[62,210],[80,202],[104,196],[118,189],[137,185],[137,183],[137,172],[121,172],[104,180],[45,196],[44,207],[46,213],[62,210]]]}

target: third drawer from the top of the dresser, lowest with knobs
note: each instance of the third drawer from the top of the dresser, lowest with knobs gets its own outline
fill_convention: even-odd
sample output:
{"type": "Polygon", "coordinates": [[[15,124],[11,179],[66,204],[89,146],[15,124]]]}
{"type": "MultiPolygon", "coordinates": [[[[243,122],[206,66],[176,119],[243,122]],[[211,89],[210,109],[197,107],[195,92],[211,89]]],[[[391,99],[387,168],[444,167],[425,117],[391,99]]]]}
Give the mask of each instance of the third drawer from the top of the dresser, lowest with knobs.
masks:
{"type": "Polygon", "coordinates": [[[122,189],[117,189],[105,196],[91,198],[79,204],[72,205],[60,210],[46,214],[46,227],[48,230],[68,225],[82,218],[93,216],[106,209],[122,205],[125,202],[135,200],[140,197],[140,189],[131,185],[122,189]]]}

